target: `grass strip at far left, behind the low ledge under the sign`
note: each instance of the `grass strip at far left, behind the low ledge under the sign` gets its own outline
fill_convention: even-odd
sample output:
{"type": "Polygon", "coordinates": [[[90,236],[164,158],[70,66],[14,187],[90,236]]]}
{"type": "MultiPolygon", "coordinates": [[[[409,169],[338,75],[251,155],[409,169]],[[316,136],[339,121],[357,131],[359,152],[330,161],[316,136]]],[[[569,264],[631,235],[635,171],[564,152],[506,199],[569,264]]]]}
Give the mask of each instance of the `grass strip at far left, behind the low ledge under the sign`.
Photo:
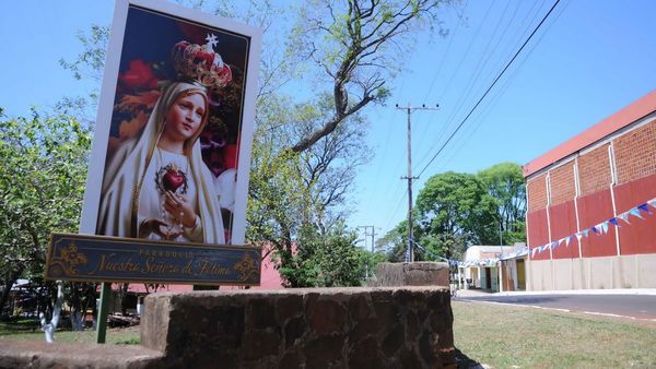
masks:
{"type": "MultiPolygon", "coordinates": [[[[0,321],[0,345],[2,340],[34,340],[45,341],[40,323],[35,319],[21,319],[17,321],[0,321]]],[[[55,342],[65,343],[95,343],[95,331],[83,332],[57,331],[55,342]]],[[[106,342],[108,344],[139,344],[139,326],[107,329],[106,342]]]]}

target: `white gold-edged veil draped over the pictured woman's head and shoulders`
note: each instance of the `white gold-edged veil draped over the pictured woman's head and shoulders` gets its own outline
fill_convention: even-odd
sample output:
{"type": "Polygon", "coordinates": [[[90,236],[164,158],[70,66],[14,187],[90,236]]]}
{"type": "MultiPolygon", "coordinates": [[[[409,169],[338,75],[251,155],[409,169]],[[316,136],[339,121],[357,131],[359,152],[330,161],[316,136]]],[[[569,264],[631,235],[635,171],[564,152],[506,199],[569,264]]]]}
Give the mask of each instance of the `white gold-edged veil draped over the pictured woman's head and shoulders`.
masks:
{"type": "MultiPolygon", "coordinates": [[[[157,141],[164,130],[166,112],[180,94],[189,90],[204,94],[202,87],[185,82],[174,82],[164,87],[141,134],[126,141],[106,165],[96,227],[98,235],[137,238],[139,224],[142,222],[139,214],[145,214],[145,210],[140,210],[144,206],[140,198],[148,197],[149,200],[145,200],[149,203],[148,206],[159,206],[159,199],[156,200],[157,204],[151,204],[153,191],[143,189],[153,180],[147,178],[147,171],[152,165],[157,141]]],[[[186,146],[189,167],[187,180],[194,181],[196,187],[196,209],[200,221],[197,228],[202,231],[202,237],[198,237],[198,239],[204,243],[223,245],[225,236],[219,197],[213,187],[213,176],[202,162],[198,141],[201,130],[202,127],[189,140],[192,142],[188,142],[190,147],[186,146]]]]}

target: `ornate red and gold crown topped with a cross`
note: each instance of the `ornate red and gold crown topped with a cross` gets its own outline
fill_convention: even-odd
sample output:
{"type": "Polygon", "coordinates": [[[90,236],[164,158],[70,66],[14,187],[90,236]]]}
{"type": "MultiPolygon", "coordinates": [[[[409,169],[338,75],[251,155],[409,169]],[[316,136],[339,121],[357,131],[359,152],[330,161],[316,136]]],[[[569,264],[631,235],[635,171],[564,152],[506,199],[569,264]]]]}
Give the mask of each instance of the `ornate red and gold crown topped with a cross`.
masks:
{"type": "Polygon", "coordinates": [[[225,87],[232,81],[232,71],[214,52],[216,36],[208,35],[206,45],[179,41],[172,51],[173,67],[181,79],[194,80],[210,90],[225,87]]]}

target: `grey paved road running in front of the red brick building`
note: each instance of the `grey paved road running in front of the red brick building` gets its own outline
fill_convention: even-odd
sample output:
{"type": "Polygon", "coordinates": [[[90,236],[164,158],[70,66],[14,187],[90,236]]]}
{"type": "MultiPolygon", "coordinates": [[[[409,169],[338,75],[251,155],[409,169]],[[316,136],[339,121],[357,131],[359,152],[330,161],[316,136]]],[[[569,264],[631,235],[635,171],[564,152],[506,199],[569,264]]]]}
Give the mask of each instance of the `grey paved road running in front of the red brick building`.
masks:
{"type": "Polygon", "coordinates": [[[488,301],[565,309],[591,314],[630,317],[656,322],[656,296],[644,295],[520,295],[457,297],[456,300],[488,301]]]}

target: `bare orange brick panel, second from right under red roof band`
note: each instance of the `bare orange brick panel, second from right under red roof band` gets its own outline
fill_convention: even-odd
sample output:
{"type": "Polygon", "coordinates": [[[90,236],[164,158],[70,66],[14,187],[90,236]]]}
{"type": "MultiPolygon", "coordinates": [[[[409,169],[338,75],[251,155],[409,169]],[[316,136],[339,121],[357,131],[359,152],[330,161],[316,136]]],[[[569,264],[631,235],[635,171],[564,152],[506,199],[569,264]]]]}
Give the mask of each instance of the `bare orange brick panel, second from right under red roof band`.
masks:
{"type": "Polygon", "coordinates": [[[578,180],[581,195],[607,190],[612,182],[608,146],[601,145],[578,157],[578,180]]]}

